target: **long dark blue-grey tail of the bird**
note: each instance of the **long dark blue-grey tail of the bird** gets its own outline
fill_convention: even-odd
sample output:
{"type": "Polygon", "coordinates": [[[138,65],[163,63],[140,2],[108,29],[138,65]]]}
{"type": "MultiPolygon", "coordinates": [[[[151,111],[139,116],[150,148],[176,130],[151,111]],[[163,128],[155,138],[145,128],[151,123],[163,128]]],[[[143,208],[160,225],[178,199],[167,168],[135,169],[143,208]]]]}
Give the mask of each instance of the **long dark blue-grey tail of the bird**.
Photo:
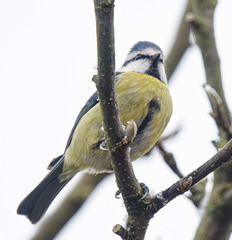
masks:
{"type": "Polygon", "coordinates": [[[62,172],[64,158],[48,173],[44,180],[20,203],[17,213],[25,215],[31,223],[36,223],[44,215],[53,199],[69,182],[60,182],[59,175],[62,172]]]}

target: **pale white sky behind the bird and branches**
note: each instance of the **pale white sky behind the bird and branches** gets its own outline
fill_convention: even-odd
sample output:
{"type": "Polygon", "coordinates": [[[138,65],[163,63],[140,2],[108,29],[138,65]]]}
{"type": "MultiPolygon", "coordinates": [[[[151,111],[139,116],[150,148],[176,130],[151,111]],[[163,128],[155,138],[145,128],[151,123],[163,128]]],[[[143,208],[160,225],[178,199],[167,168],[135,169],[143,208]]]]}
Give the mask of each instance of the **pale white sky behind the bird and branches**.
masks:
{"type": "MultiPolygon", "coordinates": [[[[186,0],[116,1],[116,65],[131,46],[148,40],[165,55],[171,48],[186,0]]],[[[215,33],[226,97],[232,103],[232,2],[219,1],[215,33]]],[[[42,180],[49,161],[61,154],[76,119],[95,91],[96,37],[93,1],[9,0],[0,2],[0,239],[29,240],[39,224],[16,215],[20,201],[42,180]]],[[[181,126],[167,142],[183,173],[197,168],[214,153],[217,138],[210,106],[202,88],[204,69],[199,49],[192,46],[173,75],[170,91],[174,113],[166,133],[181,126]]],[[[134,164],[136,176],[153,193],[177,177],[159,154],[134,164]]],[[[55,199],[45,220],[68,194],[55,199]]],[[[212,177],[209,178],[208,188],[212,177]]],[[[114,177],[108,177],[66,225],[56,240],[119,239],[112,233],[125,210],[114,198],[114,177]]],[[[181,196],[151,220],[146,239],[191,240],[203,211],[181,196]]],[[[41,221],[41,223],[42,223],[41,221]]],[[[232,239],[232,238],[231,238],[232,239]]]]}

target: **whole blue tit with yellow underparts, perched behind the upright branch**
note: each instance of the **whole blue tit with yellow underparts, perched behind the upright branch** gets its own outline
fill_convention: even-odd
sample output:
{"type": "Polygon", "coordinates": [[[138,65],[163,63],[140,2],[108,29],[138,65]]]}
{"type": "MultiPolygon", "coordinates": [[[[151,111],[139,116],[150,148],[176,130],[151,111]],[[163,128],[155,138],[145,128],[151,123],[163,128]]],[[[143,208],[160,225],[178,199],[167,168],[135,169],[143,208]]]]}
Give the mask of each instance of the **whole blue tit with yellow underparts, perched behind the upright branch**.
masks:
{"type": "MultiPolygon", "coordinates": [[[[131,48],[116,73],[122,124],[126,127],[133,119],[137,125],[137,135],[130,146],[131,161],[155,145],[172,114],[163,61],[160,47],[141,41],[131,48]]],[[[64,153],[50,163],[49,169],[48,175],[17,209],[18,214],[26,215],[32,223],[40,220],[56,195],[78,172],[112,172],[97,93],[82,108],[64,153]]]]}

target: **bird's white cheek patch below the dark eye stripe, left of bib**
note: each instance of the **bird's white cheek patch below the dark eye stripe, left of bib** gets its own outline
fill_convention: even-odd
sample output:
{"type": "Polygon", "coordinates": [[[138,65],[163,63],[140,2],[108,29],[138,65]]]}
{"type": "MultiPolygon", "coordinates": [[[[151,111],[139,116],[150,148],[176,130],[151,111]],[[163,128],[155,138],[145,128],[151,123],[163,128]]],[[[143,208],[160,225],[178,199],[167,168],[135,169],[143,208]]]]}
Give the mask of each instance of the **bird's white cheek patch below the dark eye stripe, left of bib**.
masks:
{"type": "Polygon", "coordinates": [[[150,61],[147,59],[140,59],[129,62],[126,66],[119,69],[119,72],[139,72],[145,73],[150,67],[150,61]]]}

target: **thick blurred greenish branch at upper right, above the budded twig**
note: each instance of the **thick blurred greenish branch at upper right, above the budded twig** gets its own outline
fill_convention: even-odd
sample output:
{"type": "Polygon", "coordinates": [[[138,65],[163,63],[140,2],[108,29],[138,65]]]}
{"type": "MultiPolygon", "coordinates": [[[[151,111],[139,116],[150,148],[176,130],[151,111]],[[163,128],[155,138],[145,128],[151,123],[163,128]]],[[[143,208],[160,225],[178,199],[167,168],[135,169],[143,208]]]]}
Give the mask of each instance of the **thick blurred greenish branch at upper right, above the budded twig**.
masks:
{"type": "Polygon", "coordinates": [[[195,41],[200,47],[204,62],[206,81],[214,88],[222,99],[228,121],[231,122],[229,109],[225,100],[220,59],[214,37],[214,10],[217,0],[192,0],[192,12],[186,16],[195,34],[195,41]]]}

